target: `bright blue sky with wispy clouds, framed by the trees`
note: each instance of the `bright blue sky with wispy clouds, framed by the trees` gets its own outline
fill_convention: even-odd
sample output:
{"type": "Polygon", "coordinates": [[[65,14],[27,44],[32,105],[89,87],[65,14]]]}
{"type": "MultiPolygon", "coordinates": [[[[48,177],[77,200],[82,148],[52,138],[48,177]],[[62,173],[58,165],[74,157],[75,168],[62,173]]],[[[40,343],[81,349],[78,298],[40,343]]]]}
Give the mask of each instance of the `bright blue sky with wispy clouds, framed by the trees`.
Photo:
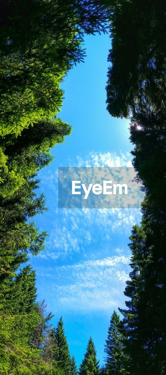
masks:
{"type": "Polygon", "coordinates": [[[35,217],[48,231],[46,249],[30,259],[36,269],[37,300],[46,300],[53,326],[63,316],[71,355],[78,366],[90,335],[103,363],[111,315],[125,306],[123,294],[130,272],[127,246],[139,209],[58,209],[60,166],[129,166],[132,144],[129,120],[106,111],[107,34],[86,36],[87,57],[69,71],[61,87],[63,107],[58,115],[73,127],[64,144],[52,149],[54,162],[39,172],[39,192],[49,208],[35,217]]]}

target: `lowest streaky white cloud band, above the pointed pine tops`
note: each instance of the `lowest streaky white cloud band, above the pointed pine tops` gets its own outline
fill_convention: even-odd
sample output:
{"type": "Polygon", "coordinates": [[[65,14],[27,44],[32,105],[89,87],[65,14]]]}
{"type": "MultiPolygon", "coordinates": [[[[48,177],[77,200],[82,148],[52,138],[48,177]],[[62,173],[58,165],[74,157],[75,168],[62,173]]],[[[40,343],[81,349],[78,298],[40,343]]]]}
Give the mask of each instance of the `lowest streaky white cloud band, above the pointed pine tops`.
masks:
{"type": "Polygon", "coordinates": [[[81,313],[110,311],[123,304],[125,281],[129,278],[128,264],[129,257],[125,256],[88,260],[50,268],[43,277],[49,278],[52,303],[61,306],[61,311],[66,308],[81,313]]]}

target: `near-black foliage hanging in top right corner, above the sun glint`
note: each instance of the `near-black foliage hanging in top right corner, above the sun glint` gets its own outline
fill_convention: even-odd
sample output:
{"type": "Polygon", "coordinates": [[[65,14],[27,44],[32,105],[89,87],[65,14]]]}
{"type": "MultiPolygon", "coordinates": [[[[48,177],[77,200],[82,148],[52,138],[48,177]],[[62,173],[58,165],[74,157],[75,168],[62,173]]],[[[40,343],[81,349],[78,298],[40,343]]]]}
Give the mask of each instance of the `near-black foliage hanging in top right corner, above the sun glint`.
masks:
{"type": "Polygon", "coordinates": [[[166,4],[163,0],[110,2],[107,103],[115,117],[140,109],[165,110],[166,4]]]}

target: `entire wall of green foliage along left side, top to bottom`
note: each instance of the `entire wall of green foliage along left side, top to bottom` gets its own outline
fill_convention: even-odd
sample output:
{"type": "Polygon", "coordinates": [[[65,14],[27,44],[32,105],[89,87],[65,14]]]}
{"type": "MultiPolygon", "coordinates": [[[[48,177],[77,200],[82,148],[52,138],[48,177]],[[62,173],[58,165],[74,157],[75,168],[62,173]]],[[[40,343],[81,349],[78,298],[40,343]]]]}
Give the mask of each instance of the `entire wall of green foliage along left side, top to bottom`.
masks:
{"type": "Polygon", "coordinates": [[[1,375],[77,374],[62,320],[52,329],[51,313],[35,302],[35,272],[18,269],[45,246],[45,231],[29,220],[47,209],[37,172],[71,132],[56,117],[60,83],[84,59],[84,33],[105,32],[107,18],[102,1],[0,2],[1,375]]]}

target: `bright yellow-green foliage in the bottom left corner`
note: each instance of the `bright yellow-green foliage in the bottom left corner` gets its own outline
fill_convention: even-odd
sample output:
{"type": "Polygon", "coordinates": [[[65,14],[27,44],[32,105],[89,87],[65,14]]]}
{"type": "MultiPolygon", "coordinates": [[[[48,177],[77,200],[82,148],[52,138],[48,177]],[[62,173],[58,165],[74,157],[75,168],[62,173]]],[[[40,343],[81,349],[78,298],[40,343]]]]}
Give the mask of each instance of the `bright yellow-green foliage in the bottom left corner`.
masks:
{"type": "Polygon", "coordinates": [[[30,347],[30,331],[37,324],[39,315],[0,316],[0,374],[39,374],[46,369],[39,351],[30,347]]]}

